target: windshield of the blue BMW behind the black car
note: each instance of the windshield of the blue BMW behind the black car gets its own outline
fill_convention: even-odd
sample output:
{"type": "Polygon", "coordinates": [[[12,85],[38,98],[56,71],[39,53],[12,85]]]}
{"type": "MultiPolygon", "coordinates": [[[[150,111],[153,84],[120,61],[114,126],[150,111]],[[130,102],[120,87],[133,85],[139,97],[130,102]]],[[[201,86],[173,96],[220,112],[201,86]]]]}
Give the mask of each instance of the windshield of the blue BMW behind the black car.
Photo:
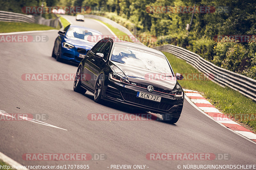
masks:
{"type": "Polygon", "coordinates": [[[75,38],[79,38],[82,40],[87,40],[88,36],[92,36],[92,35],[100,35],[100,34],[97,32],[94,32],[94,31],[89,31],[86,29],[76,28],[76,27],[69,28],[69,30],[66,34],[66,36],[68,36],[68,37],[75,37],[75,38]]]}

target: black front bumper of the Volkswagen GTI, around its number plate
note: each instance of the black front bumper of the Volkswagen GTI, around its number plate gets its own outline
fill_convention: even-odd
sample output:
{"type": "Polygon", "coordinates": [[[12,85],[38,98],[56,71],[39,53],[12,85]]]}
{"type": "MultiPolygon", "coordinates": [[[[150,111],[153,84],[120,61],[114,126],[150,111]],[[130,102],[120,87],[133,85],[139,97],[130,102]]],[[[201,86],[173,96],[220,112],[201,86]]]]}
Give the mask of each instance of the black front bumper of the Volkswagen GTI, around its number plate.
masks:
{"type": "Polygon", "coordinates": [[[184,102],[184,92],[182,98],[174,98],[159,92],[148,92],[146,89],[142,89],[140,87],[121,85],[110,80],[106,81],[107,82],[105,83],[101,96],[103,99],[140,107],[153,113],[169,113],[173,117],[180,117],[184,102]],[[144,92],[159,96],[161,97],[161,101],[156,102],[136,97],[137,92],[144,92]]]}

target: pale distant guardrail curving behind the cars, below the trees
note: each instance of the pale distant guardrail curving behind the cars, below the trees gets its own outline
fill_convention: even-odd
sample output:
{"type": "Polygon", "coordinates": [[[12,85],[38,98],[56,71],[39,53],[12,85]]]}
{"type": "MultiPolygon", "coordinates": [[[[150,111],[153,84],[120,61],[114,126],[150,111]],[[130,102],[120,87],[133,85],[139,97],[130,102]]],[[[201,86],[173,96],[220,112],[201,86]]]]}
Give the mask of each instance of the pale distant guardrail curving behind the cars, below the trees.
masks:
{"type": "MultiPolygon", "coordinates": [[[[87,14],[84,15],[85,18],[92,18],[92,19],[99,19],[105,23],[110,24],[111,26],[119,29],[120,31],[126,33],[127,35],[129,35],[131,37],[131,39],[136,39],[134,41],[134,43],[140,44],[140,45],[144,45],[142,42],[140,42],[127,28],[125,28],[124,26],[121,26],[120,24],[116,23],[115,21],[105,18],[105,17],[101,17],[99,15],[92,15],[92,14],[87,14]],[[133,37],[132,37],[133,36],[133,37]]],[[[134,28],[136,30],[136,28],[134,28]]],[[[144,45],[145,46],[145,45],[144,45]]]]}

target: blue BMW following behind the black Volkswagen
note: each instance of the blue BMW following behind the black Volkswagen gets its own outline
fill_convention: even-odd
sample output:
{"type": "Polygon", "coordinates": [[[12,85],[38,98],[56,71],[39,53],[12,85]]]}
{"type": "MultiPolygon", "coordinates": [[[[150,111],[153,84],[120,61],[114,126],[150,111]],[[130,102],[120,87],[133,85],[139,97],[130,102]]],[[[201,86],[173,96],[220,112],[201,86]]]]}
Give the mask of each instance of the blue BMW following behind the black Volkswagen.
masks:
{"type": "Polygon", "coordinates": [[[58,34],[54,42],[52,57],[57,61],[64,59],[75,63],[80,63],[85,54],[96,44],[95,41],[91,41],[90,37],[102,35],[97,30],[76,25],[68,25],[58,34]]]}

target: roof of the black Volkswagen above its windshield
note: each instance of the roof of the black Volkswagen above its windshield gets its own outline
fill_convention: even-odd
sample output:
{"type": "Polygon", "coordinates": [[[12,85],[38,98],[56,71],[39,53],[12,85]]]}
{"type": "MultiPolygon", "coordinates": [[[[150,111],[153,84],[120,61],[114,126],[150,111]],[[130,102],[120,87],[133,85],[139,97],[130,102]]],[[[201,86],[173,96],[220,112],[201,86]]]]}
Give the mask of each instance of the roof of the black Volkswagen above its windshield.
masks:
{"type": "Polygon", "coordinates": [[[149,48],[147,46],[143,46],[143,45],[136,44],[136,43],[133,43],[133,42],[123,41],[123,40],[118,40],[118,39],[113,39],[113,38],[105,38],[105,39],[112,40],[114,42],[114,44],[121,44],[121,45],[130,46],[130,47],[134,47],[134,48],[140,48],[140,49],[144,49],[144,50],[147,50],[149,52],[152,52],[152,53],[156,53],[156,54],[165,56],[162,52],[160,52],[156,49],[149,48]]]}

